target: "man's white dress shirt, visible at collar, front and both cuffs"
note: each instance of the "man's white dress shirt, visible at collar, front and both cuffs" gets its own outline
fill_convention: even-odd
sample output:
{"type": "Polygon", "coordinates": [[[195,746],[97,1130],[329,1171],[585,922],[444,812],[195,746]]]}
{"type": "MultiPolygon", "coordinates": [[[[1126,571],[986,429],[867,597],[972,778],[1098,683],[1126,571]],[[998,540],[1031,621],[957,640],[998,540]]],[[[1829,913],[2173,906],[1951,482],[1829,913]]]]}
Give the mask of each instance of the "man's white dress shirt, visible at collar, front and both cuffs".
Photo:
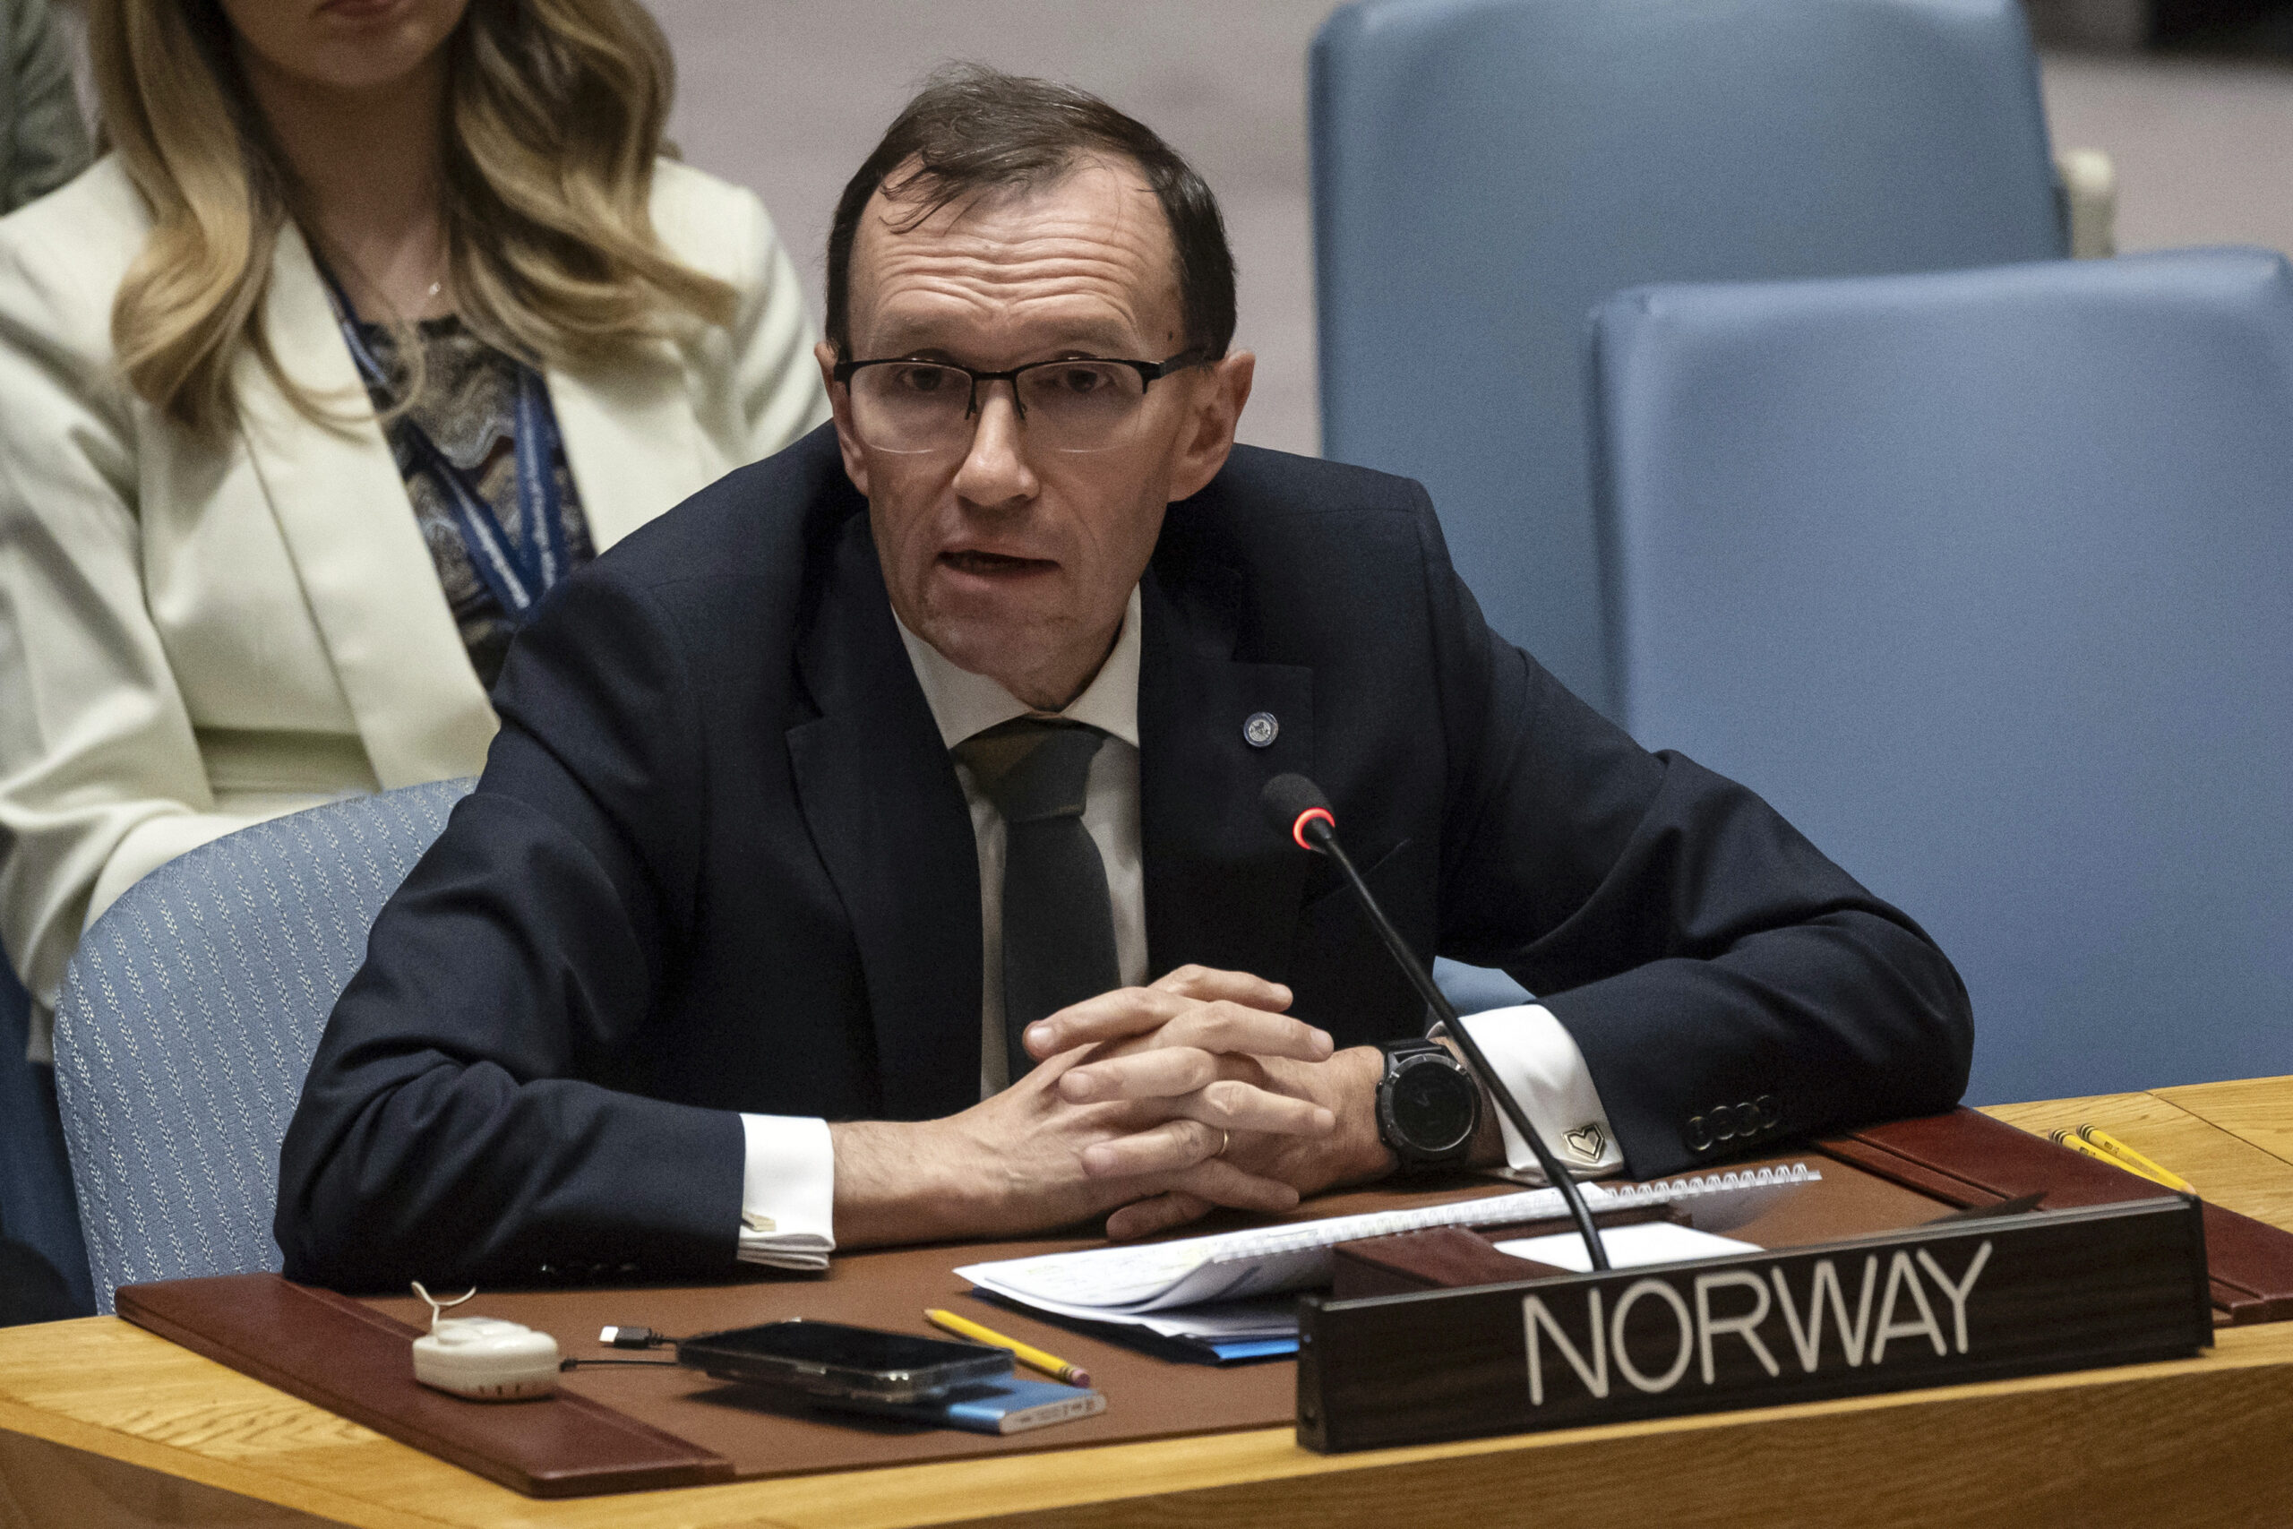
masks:
{"type": "MultiPolygon", "coordinates": [[[[894,617],[897,619],[897,617],[894,617]]],[[[1114,905],[1114,965],[1126,986],[1146,981],[1146,880],[1140,857],[1140,591],[1130,591],[1124,630],[1091,683],[1059,713],[1039,713],[993,679],[958,669],[945,653],[899,624],[908,662],[924,688],[940,740],[965,738],[1027,715],[1057,715],[1108,734],[1091,756],[1082,828],[1098,846],[1114,905]]],[[[1004,823],[956,761],[979,846],[979,1098],[1011,1080],[1002,1034],[1002,869],[1004,823]]],[[[1543,1004],[1493,1009],[1465,1020],[1490,1066],[1516,1091],[1529,1119],[1564,1162],[1587,1174],[1614,1174],[1623,1153],[1591,1084],[1584,1054],[1543,1004]]],[[[835,1249],[835,1148],[825,1121],[743,1114],[748,1167],[741,1181],[741,1259],[782,1268],[823,1268],[835,1249]]],[[[1504,1121],[1509,1174],[1543,1183],[1527,1142],[1504,1121]]]]}

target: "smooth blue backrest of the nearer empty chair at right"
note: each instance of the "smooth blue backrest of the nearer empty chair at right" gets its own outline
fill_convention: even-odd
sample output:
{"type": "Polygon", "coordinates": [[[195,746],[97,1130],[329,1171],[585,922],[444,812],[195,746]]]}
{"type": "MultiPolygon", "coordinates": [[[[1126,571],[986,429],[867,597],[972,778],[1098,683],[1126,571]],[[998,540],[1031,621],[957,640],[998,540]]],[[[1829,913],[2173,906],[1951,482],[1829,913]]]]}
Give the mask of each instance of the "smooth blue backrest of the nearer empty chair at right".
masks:
{"type": "Polygon", "coordinates": [[[2293,1073],[2293,270],[1656,287],[1598,314],[1623,718],[1974,997],[1970,1098],[2293,1073]]]}

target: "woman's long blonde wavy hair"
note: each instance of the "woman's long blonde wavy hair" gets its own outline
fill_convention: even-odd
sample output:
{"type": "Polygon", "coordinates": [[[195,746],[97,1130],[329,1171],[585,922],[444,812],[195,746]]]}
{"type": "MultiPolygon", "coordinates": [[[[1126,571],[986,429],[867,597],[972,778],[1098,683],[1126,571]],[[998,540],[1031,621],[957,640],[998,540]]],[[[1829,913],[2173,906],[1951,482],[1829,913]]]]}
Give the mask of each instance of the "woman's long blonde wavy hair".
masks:
{"type": "MultiPolygon", "coordinates": [[[[264,296],[298,188],[248,94],[216,0],[89,0],[103,128],[151,206],[112,303],[128,385],[209,433],[236,420],[248,346],[307,417],[264,296]]],[[[663,250],[649,199],[674,66],[637,0],[470,0],[447,48],[445,229],[456,312],[488,344],[587,367],[736,293],[663,250]]],[[[399,348],[406,355],[406,346],[399,348]]]]}

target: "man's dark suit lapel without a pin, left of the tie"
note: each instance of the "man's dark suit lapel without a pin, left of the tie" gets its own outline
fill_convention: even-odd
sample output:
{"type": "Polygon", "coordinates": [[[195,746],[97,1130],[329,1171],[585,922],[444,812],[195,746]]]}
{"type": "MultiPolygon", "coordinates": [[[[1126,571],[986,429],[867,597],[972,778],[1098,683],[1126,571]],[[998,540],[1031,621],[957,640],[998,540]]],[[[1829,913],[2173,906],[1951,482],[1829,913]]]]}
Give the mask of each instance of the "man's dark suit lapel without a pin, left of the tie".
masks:
{"type": "Polygon", "coordinates": [[[796,662],[821,715],[789,729],[789,759],[860,947],[883,1112],[954,1114],[979,1100],[979,848],[867,513],[837,539],[796,662]]]}

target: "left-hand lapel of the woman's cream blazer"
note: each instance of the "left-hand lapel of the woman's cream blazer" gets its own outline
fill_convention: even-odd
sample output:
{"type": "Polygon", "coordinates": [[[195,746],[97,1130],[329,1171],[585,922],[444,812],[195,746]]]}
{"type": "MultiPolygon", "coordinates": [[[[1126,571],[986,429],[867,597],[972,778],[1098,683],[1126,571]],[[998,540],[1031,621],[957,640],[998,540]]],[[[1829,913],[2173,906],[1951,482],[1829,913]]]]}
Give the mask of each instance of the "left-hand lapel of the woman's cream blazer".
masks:
{"type": "MultiPolygon", "coordinates": [[[[294,227],[280,234],[264,323],[294,381],[332,408],[367,408],[294,227]]],[[[312,424],[252,355],[238,360],[232,383],[248,454],[376,779],[390,789],[475,775],[493,740],[493,706],[381,429],[371,417],[312,424]]]]}

